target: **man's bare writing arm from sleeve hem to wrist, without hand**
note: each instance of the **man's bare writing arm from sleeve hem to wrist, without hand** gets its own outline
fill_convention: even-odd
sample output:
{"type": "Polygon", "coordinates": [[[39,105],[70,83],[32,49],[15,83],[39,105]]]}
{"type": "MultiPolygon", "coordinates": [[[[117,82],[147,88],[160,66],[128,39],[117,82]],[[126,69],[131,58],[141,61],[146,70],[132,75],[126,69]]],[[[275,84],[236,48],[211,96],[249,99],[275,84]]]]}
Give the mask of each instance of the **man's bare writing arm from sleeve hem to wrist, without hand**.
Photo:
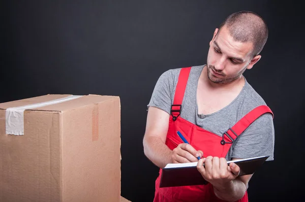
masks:
{"type": "Polygon", "coordinates": [[[172,163],[173,151],[165,145],[169,114],[156,107],[149,107],[143,138],[144,154],[160,168],[172,163]]]}

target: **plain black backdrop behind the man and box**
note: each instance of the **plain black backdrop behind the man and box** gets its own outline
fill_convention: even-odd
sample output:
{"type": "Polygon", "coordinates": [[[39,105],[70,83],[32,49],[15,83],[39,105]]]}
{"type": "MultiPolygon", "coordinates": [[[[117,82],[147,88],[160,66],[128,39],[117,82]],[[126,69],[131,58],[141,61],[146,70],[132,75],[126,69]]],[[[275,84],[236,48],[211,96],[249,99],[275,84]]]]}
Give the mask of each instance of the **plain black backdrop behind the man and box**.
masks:
{"type": "MultiPolygon", "coordinates": [[[[300,3],[299,3],[300,4],[300,3]]],[[[298,201],[304,174],[304,14],[293,1],[2,1],[0,102],[44,94],[121,100],[121,195],[152,201],[158,168],[143,153],[146,105],[168,69],[206,62],[214,30],[251,10],[269,28],[245,72],[275,114],[275,160],[255,173],[250,201],[298,201]]]]}

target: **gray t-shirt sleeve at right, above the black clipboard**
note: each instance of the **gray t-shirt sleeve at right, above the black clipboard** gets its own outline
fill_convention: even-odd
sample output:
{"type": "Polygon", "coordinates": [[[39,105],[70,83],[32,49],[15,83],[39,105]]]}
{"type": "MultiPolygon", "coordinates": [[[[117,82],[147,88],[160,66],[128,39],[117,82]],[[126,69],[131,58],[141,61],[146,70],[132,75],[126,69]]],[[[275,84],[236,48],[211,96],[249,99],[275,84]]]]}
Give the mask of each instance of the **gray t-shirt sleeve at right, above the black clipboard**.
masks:
{"type": "Polygon", "coordinates": [[[267,113],[257,118],[237,139],[232,158],[269,156],[273,160],[275,130],[272,115],[267,113]]]}

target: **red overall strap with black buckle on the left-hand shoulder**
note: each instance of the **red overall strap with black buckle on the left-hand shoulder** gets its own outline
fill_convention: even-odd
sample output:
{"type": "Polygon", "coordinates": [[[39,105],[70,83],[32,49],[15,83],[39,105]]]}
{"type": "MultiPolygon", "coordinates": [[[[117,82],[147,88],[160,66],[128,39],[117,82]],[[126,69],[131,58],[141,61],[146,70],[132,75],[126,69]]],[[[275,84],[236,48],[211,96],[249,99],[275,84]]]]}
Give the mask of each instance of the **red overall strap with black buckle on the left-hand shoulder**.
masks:
{"type": "Polygon", "coordinates": [[[173,116],[173,120],[176,120],[181,112],[182,100],[186,91],[186,87],[188,84],[189,75],[191,72],[191,66],[188,68],[181,68],[178,82],[175,90],[175,96],[173,105],[171,106],[171,115],[173,116]]]}

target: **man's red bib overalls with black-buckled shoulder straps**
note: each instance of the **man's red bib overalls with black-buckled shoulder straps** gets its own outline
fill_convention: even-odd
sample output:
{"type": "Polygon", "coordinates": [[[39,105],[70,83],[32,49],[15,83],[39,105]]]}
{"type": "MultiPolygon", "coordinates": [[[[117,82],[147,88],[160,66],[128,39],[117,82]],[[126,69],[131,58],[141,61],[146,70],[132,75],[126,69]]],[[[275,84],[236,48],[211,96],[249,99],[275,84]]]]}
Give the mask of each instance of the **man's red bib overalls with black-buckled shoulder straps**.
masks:
{"type": "MultiPolygon", "coordinates": [[[[267,106],[259,106],[241,118],[234,126],[228,128],[223,134],[223,137],[209,132],[181,117],[180,110],[182,99],[184,97],[191,68],[182,68],[179,74],[178,83],[175,91],[174,102],[169,118],[169,128],[166,137],[166,145],[173,150],[182,140],[178,137],[179,130],[184,134],[187,141],[196,150],[203,151],[203,156],[218,156],[225,157],[228,153],[231,143],[259,116],[264,113],[271,113],[267,106]]],[[[273,116],[273,114],[272,114],[273,116]]],[[[165,187],[160,188],[162,169],[160,169],[159,177],[156,180],[156,192],[154,202],[167,201],[223,201],[216,197],[212,185],[194,185],[180,187],[165,187]]],[[[238,201],[248,201],[248,193],[238,201]]]]}

